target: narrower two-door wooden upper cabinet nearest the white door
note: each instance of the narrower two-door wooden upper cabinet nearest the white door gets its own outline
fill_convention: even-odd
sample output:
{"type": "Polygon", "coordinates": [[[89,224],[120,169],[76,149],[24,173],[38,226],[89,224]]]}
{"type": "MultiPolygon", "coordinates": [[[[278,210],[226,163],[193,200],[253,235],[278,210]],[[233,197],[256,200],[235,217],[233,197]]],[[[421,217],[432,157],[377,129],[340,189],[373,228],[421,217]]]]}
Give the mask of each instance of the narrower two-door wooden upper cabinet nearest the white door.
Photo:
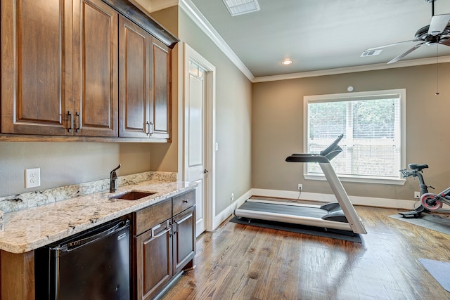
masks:
{"type": "Polygon", "coordinates": [[[120,18],[119,136],[170,138],[170,49],[120,18]]]}

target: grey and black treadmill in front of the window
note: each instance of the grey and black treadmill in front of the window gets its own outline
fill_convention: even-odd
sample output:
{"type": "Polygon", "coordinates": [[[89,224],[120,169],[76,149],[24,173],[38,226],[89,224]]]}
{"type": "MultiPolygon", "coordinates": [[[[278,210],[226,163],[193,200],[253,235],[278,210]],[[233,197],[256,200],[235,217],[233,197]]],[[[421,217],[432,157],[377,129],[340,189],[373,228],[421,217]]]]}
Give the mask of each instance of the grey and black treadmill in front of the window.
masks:
{"type": "Polygon", "coordinates": [[[366,234],[361,218],[330,164],[330,160],[342,152],[338,143],[343,136],[338,136],[319,154],[293,154],[285,159],[286,162],[318,162],[338,202],[309,205],[249,199],[234,211],[235,216],[247,218],[249,223],[251,219],[258,219],[314,226],[336,232],[343,230],[349,234],[366,234]]]}

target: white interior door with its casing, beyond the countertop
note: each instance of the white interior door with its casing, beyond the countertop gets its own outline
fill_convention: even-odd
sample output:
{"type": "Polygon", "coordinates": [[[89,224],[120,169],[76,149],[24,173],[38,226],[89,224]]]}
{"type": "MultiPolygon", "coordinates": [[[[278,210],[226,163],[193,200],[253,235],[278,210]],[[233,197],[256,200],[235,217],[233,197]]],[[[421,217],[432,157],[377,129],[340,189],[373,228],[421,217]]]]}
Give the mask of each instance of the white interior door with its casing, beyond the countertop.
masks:
{"type": "Polygon", "coordinates": [[[184,54],[184,180],[198,183],[198,236],[215,216],[215,67],[187,44],[184,54]]]}

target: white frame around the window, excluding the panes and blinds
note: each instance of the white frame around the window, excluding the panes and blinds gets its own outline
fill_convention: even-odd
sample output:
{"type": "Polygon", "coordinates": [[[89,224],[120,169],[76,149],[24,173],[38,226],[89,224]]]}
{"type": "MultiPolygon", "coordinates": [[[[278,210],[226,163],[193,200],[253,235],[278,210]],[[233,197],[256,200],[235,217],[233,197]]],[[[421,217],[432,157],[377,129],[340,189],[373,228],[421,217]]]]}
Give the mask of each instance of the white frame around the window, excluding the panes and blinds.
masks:
{"type": "MultiPolygon", "coordinates": [[[[399,94],[400,95],[400,163],[403,169],[406,166],[406,89],[391,89],[383,91],[362,91],[353,93],[336,93],[328,95],[315,95],[315,96],[304,96],[303,97],[303,145],[304,153],[308,152],[308,103],[315,102],[329,102],[333,100],[342,99],[354,99],[371,97],[374,96],[384,96],[384,95],[399,94]]],[[[303,164],[303,176],[308,180],[321,180],[325,181],[326,178],[323,174],[307,174],[308,167],[307,164],[303,164]]],[[[352,175],[342,175],[338,174],[340,181],[347,182],[357,182],[357,183],[380,183],[380,184],[391,184],[391,185],[404,185],[406,180],[401,178],[399,172],[399,178],[373,178],[370,176],[352,176],[352,175]]]]}

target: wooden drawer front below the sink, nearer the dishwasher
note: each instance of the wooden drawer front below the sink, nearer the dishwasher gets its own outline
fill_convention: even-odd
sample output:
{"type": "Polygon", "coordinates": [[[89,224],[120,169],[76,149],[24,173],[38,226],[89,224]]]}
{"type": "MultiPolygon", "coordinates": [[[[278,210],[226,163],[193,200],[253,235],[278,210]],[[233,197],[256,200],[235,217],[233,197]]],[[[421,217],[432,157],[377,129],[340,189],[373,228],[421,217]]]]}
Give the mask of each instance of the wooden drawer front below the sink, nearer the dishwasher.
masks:
{"type": "Polygon", "coordinates": [[[172,202],[170,198],[140,211],[134,217],[134,235],[140,235],[159,223],[172,218],[172,202]]]}

